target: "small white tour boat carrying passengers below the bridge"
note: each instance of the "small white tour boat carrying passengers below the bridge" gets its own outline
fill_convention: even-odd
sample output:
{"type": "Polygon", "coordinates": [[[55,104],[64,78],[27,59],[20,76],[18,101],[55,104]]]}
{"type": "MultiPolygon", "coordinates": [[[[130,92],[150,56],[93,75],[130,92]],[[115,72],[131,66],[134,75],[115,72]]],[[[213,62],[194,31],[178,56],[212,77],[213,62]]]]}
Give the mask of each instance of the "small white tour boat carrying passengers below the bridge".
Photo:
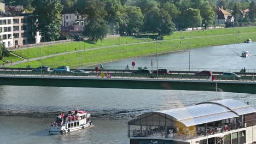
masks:
{"type": "Polygon", "coordinates": [[[85,111],[69,111],[56,116],[51,123],[50,134],[66,134],[71,131],[84,129],[91,125],[91,114],[85,111]]]}

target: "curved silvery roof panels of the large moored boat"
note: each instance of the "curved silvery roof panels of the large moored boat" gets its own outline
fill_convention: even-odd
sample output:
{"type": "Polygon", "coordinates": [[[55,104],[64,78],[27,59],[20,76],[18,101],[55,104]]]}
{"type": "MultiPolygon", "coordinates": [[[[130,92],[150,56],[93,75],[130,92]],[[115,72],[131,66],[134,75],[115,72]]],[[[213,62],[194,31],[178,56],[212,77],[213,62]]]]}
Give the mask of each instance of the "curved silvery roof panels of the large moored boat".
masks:
{"type": "MultiPolygon", "coordinates": [[[[224,99],[199,103],[193,106],[181,107],[178,109],[157,111],[154,113],[164,113],[166,116],[172,117],[174,121],[181,122],[186,127],[190,127],[193,125],[235,118],[239,117],[240,115],[253,112],[256,112],[256,110],[249,105],[242,103],[241,101],[224,99]]],[[[141,116],[138,116],[137,119],[141,116]]],[[[132,121],[134,121],[134,119],[132,121]]]]}

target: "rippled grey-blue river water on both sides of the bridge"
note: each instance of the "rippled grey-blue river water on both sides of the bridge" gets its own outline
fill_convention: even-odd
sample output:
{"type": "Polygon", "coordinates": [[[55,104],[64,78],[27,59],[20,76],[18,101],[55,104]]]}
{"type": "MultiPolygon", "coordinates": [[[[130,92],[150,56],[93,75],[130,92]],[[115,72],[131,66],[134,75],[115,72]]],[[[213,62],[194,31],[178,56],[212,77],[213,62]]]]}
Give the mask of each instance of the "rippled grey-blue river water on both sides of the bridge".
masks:
{"type": "MultiPolygon", "coordinates": [[[[191,68],[255,69],[255,43],[207,47],[190,51],[191,68]]],[[[159,67],[188,67],[188,52],[159,55],[159,67]],[[166,66],[167,65],[167,66],[166,66]]],[[[104,64],[124,67],[132,61],[150,67],[155,56],[104,64]]],[[[78,83],[79,85],[79,83],[78,83]]],[[[100,83],[99,83],[100,85],[100,83]]],[[[144,112],[173,109],[217,99],[237,99],[256,108],[256,95],[203,91],[0,86],[1,143],[129,143],[127,122],[144,112]],[[93,127],[66,135],[49,135],[54,116],[79,109],[92,114],[93,127]]]]}

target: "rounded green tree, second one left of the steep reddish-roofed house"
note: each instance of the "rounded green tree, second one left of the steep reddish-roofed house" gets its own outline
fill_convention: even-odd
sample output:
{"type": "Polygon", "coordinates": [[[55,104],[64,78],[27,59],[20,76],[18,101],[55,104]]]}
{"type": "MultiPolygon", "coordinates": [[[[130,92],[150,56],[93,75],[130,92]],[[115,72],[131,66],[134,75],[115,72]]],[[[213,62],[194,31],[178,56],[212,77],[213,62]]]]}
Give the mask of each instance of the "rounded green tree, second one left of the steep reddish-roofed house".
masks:
{"type": "Polygon", "coordinates": [[[189,8],[184,11],[183,17],[184,17],[185,28],[192,27],[194,29],[194,27],[201,26],[202,17],[200,15],[199,9],[189,8]]]}

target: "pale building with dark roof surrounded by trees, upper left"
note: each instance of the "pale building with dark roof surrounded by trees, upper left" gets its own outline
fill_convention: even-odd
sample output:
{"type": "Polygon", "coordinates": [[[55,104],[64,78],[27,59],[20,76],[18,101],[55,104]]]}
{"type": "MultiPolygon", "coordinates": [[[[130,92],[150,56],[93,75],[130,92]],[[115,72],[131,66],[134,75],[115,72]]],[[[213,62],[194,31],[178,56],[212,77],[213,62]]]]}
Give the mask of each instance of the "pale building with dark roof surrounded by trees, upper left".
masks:
{"type": "Polygon", "coordinates": [[[62,14],[62,27],[68,27],[72,25],[84,26],[84,20],[86,19],[85,15],[81,14],[62,14]]]}

